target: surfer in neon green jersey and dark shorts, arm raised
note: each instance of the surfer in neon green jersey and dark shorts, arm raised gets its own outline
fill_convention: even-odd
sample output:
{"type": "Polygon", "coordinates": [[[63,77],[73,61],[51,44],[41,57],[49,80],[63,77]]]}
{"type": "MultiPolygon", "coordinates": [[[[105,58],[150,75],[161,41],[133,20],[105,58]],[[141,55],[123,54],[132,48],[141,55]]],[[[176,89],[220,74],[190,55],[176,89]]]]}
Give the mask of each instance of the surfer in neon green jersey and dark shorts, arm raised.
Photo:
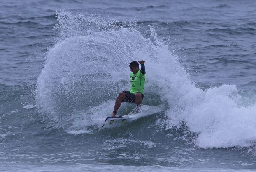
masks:
{"type": "Polygon", "coordinates": [[[117,110],[121,106],[122,102],[135,103],[137,106],[141,105],[143,95],[143,89],[145,84],[145,61],[132,61],[129,65],[130,67],[130,90],[121,91],[116,97],[116,102],[114,106],[114,111],[112,117],[116,116],[117,110]],[[141,67],[139,63],[141,64],[141,67]]]}

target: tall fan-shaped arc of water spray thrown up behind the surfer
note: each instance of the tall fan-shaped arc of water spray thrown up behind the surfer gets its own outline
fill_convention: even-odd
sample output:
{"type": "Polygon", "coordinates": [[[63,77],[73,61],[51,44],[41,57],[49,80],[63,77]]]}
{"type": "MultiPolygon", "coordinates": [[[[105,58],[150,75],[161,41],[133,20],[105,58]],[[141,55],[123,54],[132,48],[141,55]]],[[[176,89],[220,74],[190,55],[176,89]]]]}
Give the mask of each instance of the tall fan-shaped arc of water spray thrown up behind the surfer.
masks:
{"type": "MultiPolygon", "coordinates": [[[[161,83],[169,82],[165,81],[161,69],[173,66],[169,75],[175,72],[174,75],[182,77],[181,72],[177,72],[183,71],[177,57],[170,54],[166,45],[158,45],[161,42],[156,39],[153,28],[149,27],[151,38],[144,38],[135,29],[86,20],[84,16],[83,20],[90,25],[81,33],[77,32],[80,31],[81,15],[77,18],[68,12],[60,12],[59,16],[63,38],[47,54],[37,81],[37,102],[42,112],[49,114],[60,127],[72,126],[75,112],[88,114],[91,108],[114,102],[120,91],[127,90],[131,61],[146,61],[148,73],[144,90],[148,94],[147,104],[161,104],[162,100],[153,100],[155,95],[162,97],[161,83]],[[77,28],[74,20],[79,21],[77,28]],[[70,23],[72,33],[69,32],[70,23]]],[[[104,109],[105,113],[101,115],[109,115],[112,108],[104,109]]]]}

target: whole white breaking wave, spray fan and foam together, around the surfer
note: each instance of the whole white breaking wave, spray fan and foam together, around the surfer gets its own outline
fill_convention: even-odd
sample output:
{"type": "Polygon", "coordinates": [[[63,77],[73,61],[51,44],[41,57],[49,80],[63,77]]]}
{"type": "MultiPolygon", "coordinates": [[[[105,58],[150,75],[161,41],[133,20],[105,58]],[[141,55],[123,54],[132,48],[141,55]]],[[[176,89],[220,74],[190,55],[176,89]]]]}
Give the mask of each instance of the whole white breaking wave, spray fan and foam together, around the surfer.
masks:
{"type": "MultiPolygon", "coordinates": [[[[144,59],[143,104],[166,107],[156,125],[167,131],[185,125],[199,147],[254,145],[256,103],[243,103],[235,85],[198,88],[154,28],[142,36],[134,23],[122,27],[114,19],[65,10],[58,21],[61,38],[47,52],[36,90],[37,105],[54,127],[72,134],[101,127],[116,95],[128,89],[129,63],[144,59]]],[[[130,108],[122,107],[121,113],[130,108]]]]}

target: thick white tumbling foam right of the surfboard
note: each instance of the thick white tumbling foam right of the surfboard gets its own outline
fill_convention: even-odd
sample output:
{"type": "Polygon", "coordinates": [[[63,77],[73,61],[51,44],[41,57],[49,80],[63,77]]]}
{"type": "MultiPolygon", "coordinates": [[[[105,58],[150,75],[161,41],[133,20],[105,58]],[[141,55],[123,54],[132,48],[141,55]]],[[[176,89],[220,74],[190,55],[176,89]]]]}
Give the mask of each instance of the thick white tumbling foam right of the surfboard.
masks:
{"type": "Polygon", "coordinates": [[[191,132],[198,133],[199,147],[249,147],[256,141],[256,106],[240,106],[242,98],[236,86],[209,88],[201,97],[184,95],[192,102],[168,111],[169,127],[184,121],[191,132]],[[182,109],[182,110],[181,110],[182,109]]]}

